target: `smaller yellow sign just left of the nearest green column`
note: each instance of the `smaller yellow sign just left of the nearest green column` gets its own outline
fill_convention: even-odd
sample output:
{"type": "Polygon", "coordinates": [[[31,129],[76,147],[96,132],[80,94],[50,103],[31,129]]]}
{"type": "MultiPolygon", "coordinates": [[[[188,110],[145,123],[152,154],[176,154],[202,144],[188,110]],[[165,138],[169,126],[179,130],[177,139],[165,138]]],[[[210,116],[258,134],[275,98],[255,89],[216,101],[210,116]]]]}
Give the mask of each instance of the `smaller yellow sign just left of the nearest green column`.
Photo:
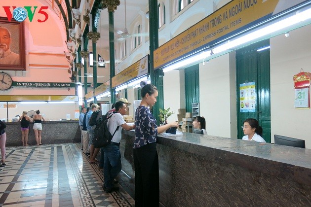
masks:
{"type": "Polygon", "coordinates": [[[128,81],[140,77],[144,74],[148,74],[148,64],[149,55],[145,56],[141,60],[137,61],[127,69],[119,72],[116,76],[112,78],[112,88],[115,88],[123,83],[127,83],[128,81]]]}

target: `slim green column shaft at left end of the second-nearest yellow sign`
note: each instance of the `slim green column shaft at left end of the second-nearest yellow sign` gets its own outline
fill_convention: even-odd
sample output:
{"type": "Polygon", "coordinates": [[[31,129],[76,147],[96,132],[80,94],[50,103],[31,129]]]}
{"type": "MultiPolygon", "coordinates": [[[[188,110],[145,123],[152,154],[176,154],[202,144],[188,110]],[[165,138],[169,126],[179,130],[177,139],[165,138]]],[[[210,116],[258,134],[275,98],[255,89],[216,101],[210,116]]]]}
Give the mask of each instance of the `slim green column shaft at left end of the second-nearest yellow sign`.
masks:
{"type": "Polygon", "coordinates": [[[112,89],[112,78],[115,76],[115,34],[114,34],[114,12],[109,11],[109,58],[110,58],[110,100],[116,103],[116,90],[112,89]]]}

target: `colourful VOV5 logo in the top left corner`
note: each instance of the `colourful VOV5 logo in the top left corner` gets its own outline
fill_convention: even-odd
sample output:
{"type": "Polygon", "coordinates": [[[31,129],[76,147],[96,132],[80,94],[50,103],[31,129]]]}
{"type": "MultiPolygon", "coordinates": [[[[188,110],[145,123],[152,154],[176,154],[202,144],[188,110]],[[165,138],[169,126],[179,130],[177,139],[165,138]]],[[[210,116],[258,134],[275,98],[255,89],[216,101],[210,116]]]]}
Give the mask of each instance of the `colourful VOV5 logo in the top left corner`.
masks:
{"type": "MultiPolygon", "coordinates": [[[[12,6],[13,12],[11,12],[11,6],[2,6],[5,13],[7,20],[10,22],[12,20],[12,17],[18,22],[23,22],[27,16],[29,18],[29,21],[32,22],[36,13],[36,10],[38,6],[34,6],[34,11],[32,11],[32,6],[24,6],[23,7],[16,7],[12,6]]],[[[41,6],[38,14],[40,14],[40,18],[38,19],[38,22],[45,22],[48,18],[47,13],[44,11],[45,9],[48,9],[48,6],[41,6]]],[[[36,15],[38,16],[38,15],[36,15]]]]}

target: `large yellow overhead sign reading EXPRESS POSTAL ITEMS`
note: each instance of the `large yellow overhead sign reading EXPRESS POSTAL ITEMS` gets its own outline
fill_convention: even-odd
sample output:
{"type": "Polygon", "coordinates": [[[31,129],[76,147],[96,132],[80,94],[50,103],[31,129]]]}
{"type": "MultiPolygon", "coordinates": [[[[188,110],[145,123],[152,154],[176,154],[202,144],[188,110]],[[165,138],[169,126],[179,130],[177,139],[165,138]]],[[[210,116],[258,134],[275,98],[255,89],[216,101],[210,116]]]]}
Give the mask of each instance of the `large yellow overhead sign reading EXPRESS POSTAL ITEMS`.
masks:
{"type": "MultiPolygon", "coordinates": [[[[233,0],[154,51],[154,68],[269,19],[279,0],[233,0]],[[245,27],[245,28],[243,28],[245,27]],[[213,42],[214,41],[214,42],[213,42]]],[[[301,1],[301,0],[300,0],[301,1]]]]}

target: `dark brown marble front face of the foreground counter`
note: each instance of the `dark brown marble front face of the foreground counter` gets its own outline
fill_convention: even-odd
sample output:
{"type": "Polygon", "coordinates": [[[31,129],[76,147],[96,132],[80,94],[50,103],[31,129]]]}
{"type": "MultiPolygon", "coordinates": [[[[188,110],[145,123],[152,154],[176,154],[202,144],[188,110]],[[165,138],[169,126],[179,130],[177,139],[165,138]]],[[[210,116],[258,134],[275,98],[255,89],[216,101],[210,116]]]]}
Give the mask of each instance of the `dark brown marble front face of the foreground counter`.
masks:
{"type": "Polygon", "coordinates": [[[311,186],[160,144],[157,149],[164,206],[311,205],[311,186]]]}

